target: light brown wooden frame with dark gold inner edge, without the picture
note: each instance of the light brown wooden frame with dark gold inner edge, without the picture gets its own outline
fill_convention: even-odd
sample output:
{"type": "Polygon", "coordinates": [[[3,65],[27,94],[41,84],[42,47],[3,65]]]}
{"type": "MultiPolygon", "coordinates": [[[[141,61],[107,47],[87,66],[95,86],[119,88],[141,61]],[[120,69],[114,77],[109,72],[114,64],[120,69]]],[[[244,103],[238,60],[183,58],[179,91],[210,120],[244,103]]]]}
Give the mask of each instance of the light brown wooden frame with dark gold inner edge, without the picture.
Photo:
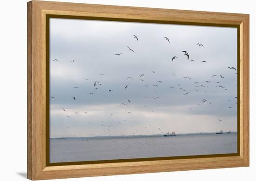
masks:
{"type": "Polygon", "coordinates": [[[27,3],[27,178],[31,180],[138,174],[249,166],[249,15],[172,9],[107,6],[33,0],[27,3]],[[238,135],[235,156],[47,164],[47,16],[110,19],[238,28],[238,135]]]}

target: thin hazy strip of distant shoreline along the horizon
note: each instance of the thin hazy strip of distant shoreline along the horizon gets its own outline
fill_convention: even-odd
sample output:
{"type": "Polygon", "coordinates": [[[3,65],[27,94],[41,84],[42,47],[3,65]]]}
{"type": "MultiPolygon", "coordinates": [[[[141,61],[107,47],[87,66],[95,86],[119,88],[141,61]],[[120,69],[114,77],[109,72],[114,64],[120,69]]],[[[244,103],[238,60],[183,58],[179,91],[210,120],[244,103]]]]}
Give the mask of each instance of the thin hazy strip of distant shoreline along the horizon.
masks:
{"type": "MultiPolygon", "coordinates": [[[[237,131],[231,131],[231,133],[237,133],[237,131]]],[[[210,135],[216,134],[216,132],[196,132],[196,133],[179,133],[176,136],[184,136],[184,135],[210,135]]],[[[223,134],[227,134],[227,132],[223,132],[223,134]]],[[[117,136],[94,136],[94,137],[55,137],[50,139],[94,139],[94,138],[123,138],[123,137],[163,137],[163,134],[155,134],[155,135],[117,135],[117,136]]]]}

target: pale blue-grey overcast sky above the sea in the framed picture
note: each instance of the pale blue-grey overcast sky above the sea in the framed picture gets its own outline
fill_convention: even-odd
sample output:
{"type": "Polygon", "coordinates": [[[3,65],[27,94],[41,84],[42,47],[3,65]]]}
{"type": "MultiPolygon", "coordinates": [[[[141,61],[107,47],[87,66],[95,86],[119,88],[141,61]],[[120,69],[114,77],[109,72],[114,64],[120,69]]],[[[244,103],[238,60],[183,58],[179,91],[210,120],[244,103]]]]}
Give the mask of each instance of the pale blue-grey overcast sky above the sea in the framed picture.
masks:
{"type": "Polygon", "coordinates": [[[237,131],[236,42],[236,28],[51,18],[50,137],[237,131]]]}

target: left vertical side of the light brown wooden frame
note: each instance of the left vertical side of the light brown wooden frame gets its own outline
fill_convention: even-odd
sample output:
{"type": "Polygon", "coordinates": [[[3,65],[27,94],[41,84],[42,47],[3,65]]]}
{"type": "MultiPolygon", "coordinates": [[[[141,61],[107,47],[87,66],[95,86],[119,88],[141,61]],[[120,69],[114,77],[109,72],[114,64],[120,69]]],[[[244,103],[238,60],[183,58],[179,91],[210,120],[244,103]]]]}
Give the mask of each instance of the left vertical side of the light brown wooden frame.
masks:
{"type": "Polygon", "coordinates": [[[41,48],[43,39],[41,37],[41,10],[37,3],[28,2],[28,170],[27,178],[34,180],[41,174],[45,168],[44,154],[45,147],[45,120],[43,117],[44,107],[43,102],[46,99],[43,94],[43,77],[44,74],[41,71],[41,64],[43,61],[41,55],[43,49],[41,48]]]}

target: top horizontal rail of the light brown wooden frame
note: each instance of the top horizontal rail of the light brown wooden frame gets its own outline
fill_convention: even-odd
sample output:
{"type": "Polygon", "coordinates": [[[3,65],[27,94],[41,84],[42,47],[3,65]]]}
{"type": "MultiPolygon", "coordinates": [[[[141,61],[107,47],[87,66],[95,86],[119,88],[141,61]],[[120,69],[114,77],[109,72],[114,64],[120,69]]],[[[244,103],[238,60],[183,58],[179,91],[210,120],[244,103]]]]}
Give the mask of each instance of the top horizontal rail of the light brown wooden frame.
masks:
{"type": "Polygon", "coordinates": [[[49,1],[34,2],[53,14],[61,15],[215,23],[223,25],[240,25],[244,20],[244,14],[237,13],[141,8],[130,6],[108,6],[49,1]]]}

